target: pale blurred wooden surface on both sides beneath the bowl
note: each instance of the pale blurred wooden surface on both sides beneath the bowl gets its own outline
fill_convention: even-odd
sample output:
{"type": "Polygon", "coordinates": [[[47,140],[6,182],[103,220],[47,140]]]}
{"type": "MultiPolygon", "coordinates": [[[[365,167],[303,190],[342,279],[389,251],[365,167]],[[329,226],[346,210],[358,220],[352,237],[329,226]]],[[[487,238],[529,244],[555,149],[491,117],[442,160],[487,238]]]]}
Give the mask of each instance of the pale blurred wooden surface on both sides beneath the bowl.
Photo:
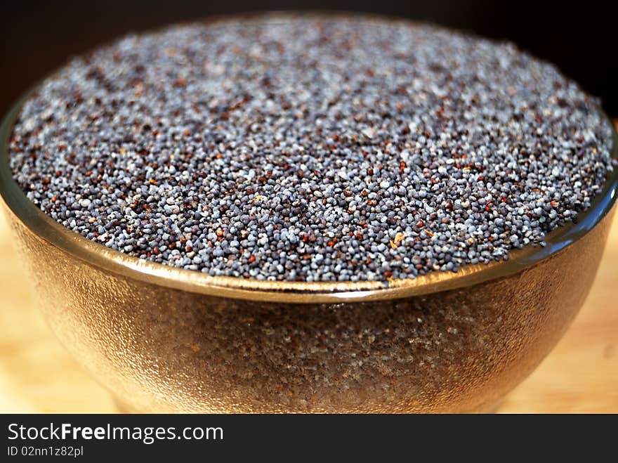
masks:
{"type": "MultiPolygon", "coordinates": [[[[618,412],[618,214],[570,330],[499,412],[618,412]]],[[[0,216],[0,412],[116,412],[39,316],[0,216]]]]}

